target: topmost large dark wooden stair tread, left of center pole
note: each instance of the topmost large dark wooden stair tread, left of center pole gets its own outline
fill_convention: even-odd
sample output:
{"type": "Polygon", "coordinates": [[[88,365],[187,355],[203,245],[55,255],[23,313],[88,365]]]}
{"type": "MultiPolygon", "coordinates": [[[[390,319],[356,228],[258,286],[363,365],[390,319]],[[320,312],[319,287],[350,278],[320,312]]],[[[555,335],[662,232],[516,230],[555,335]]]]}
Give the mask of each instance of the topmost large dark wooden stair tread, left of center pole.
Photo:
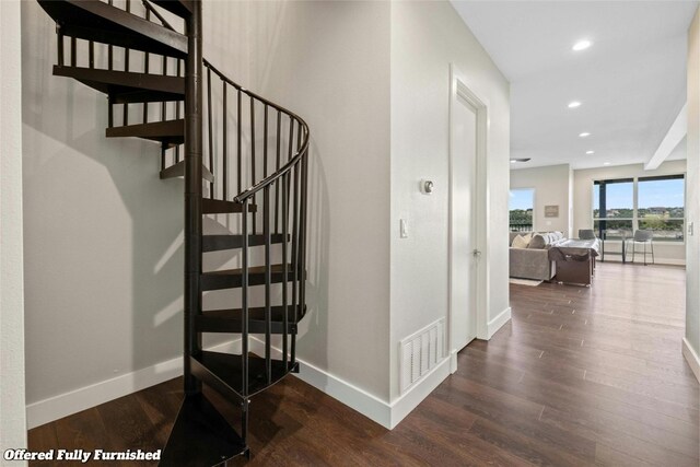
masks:
{"type": "Polygon", "coordinates": [[[175,58],[187,57],[187,36],[101,1],[38,0],[71,37],[175,58]]]}

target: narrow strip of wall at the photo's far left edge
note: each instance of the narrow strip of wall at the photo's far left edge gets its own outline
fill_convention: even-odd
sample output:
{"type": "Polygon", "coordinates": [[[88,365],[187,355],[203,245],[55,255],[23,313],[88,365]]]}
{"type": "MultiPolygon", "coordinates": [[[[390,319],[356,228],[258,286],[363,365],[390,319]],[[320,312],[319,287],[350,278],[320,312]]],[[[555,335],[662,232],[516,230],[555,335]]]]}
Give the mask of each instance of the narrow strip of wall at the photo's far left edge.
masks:
{"type": "Polygon", "coordinates": [[[0,2],[0,452],[26,447],[20,39],[20,2],[0,2]]]}

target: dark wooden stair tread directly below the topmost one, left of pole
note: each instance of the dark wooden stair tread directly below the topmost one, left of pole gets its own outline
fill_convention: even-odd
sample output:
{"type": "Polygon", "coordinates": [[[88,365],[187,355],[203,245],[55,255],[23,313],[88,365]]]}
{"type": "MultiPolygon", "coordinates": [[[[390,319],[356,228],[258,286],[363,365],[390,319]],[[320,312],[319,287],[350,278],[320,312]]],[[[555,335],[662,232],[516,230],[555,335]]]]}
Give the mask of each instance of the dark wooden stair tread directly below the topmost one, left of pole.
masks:
{"type": "Polygon", "coordinates": [[[113,96],[115,103],[183,101],[185,79],[130,71],[54,66],[57,77],[73,78],[113,96]]]}

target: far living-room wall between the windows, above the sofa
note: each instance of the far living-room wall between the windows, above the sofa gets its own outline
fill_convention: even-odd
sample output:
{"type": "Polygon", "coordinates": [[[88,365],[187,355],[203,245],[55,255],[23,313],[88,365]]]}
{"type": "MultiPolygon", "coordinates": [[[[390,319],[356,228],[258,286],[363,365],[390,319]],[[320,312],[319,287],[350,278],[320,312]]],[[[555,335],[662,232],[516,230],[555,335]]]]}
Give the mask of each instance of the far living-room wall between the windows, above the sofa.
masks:
{"type": "MultiPolygon", "coordinates": [[[[511,171],[511,189],[534,188],[534,230],[560,231],[571,235],[571,198],[569,164],[549,165],[546,167],[518,168],[511,171]],[[545,218],[545,206],[559,206],[558,218],[545,218]]],[[[506,208],[508,209],[508,208],[506,208]]]]}

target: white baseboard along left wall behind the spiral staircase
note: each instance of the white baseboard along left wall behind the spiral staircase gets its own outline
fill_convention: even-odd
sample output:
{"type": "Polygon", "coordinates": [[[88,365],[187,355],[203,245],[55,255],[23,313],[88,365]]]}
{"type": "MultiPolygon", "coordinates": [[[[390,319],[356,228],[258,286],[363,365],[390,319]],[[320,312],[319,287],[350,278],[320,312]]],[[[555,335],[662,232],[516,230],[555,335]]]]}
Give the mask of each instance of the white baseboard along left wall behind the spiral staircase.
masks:
{"type": "MultiPolygon", "coordinates": [[[[230,340],[208,348],[217,352],[240,351],[241,339],[230,340]]],[[[117,399],[147,387],[163,383],[183,374],[183,358],[167,360],[142,370],[124,374],[110,380],[101,381],[48,399],[26,406],[26,423],[28,429],[39,427],[54,420],[70,416],[100,404],[117,399]]]]}

